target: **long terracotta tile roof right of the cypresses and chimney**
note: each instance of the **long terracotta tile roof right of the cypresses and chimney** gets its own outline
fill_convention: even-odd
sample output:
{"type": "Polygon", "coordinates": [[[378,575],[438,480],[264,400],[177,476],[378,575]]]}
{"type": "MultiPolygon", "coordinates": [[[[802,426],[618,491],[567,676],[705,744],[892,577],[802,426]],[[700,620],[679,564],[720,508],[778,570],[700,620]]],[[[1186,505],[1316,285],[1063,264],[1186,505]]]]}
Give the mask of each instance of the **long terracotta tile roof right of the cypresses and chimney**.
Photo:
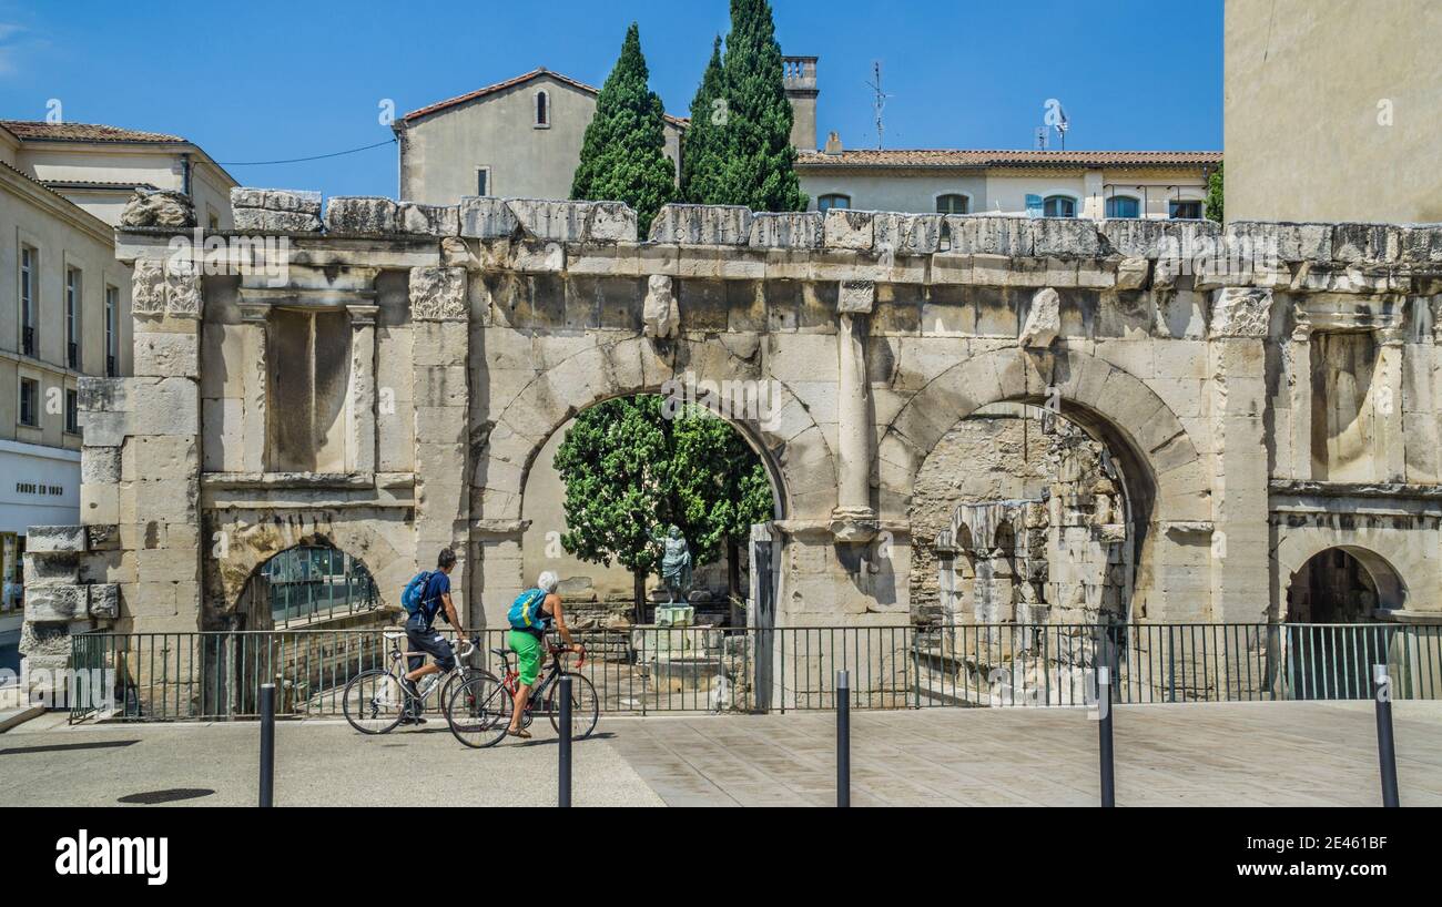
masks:
{"type": "Polygon", "coordinates": [[[800,151],[799,167],[1168,167],[1221,160],[1221,151],[1008,151],[973,149],[800,151]]]}

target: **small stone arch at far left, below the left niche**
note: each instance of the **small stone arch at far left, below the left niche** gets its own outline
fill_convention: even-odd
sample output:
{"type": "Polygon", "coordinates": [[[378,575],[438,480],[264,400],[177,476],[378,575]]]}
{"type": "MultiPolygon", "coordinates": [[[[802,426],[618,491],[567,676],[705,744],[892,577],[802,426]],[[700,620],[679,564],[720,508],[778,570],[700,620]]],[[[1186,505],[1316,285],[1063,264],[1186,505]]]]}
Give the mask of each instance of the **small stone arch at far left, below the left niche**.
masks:
{"type": "Polygon", "coordinates": [[[415,567],[414,528],[399,510],[365,516],[329,509],[213,510],[205,557],[203,629],[228,629],[251,577],[274,555],[297,545],[329,545],[366,565],[382,607],[398,607],[415,567]],[[389,528],[386,531],[385,528],[389,528]]]}

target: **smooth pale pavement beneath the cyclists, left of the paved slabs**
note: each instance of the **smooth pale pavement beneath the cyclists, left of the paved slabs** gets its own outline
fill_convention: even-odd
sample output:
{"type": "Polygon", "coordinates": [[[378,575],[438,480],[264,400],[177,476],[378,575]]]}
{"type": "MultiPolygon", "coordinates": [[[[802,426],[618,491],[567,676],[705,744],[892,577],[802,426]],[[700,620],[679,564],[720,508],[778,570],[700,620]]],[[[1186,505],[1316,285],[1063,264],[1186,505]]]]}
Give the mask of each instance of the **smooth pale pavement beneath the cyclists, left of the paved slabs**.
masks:
{"type": "MultiPolygon", "coordinates": [[[[555,737],[549,727],[532,733],[528,743],[472,750],[440,721],[384,737],[343,721],[283,721],[275,805],[552,806],[555,737]]],[[[577,806],[662,805],[604,737],[577,741],[574,754],[577,806]]],[[[254,806],[258,774],[255,722],[68,728],[46,715],[0,734],[0,806],[115,806],[176,787],[215,790],[176,805],[254,806]]]]}

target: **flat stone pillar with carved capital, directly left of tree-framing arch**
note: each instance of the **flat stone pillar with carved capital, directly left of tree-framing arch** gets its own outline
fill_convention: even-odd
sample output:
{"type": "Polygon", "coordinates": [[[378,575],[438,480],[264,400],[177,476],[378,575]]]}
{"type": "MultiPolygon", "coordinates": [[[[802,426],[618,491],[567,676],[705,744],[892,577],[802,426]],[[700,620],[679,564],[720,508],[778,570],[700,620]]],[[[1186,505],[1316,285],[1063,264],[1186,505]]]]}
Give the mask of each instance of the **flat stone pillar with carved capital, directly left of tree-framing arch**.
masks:
{"type": "MultiPolygon", "coordinates": [[[[411,268],[412,378],[415,399],[415,559],[435,567],[435,555],[456,552],[451,594],[467,588],[470,485],[466,356],[470,326],[464,268],[411,268]]],[[[373,379],[372,379],[373,385],[373,379]]],[[[373,428],[372,428],[373,437],[373,428]]],[[[373,463],[373,453],[372,453],[373,463]]],[[[519,551],[519,535],[516,547],[519,551]]],[[[480,626],[480,603],[457,601],[466,629],[480,626]]]]}

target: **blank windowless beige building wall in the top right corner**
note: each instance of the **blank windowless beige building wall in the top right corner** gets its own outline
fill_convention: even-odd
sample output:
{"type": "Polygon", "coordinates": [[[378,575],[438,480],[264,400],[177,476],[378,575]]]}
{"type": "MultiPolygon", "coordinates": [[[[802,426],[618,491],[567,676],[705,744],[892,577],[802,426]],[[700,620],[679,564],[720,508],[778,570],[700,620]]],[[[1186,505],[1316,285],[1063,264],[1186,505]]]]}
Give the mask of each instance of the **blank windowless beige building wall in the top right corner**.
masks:
{"type": "Polygon", "coordinates": [[[1432,0],[1227,0],[1227,216],[1442,222],[1439,45],[1432,0]]]}

